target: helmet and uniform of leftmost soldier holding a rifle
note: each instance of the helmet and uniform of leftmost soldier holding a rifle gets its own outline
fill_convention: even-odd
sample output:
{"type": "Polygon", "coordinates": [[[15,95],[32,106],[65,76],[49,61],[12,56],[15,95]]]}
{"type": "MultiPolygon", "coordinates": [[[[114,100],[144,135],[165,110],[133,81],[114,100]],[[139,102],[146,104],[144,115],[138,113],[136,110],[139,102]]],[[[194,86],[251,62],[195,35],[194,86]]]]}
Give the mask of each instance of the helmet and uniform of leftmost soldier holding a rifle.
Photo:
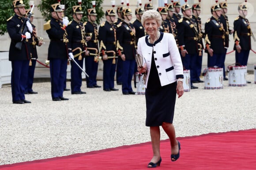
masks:
{"type": "MultiPolygon", "coordinates": [[[[25,7],[20,0],[13,1],[14,8],[25,7]]],[[[24,9],[25,10],[25,9],[24,9]]],[[[25,87],[28,78],[28,67],[30,61],[30,49],[28,40],[20,32],[21,26],[25,22],[24,17],[15,14],[7,20],[7,31],[11,37],[9,49],[9,61],[11,61],[11,94],[12,102],[15,104],[27,103],[25,100],[25,87]],[[22,42],[21,50],[15,47],[16,43],[22,42]]],[[[26,21],[29,22],[29,21],[26,21]]]]}

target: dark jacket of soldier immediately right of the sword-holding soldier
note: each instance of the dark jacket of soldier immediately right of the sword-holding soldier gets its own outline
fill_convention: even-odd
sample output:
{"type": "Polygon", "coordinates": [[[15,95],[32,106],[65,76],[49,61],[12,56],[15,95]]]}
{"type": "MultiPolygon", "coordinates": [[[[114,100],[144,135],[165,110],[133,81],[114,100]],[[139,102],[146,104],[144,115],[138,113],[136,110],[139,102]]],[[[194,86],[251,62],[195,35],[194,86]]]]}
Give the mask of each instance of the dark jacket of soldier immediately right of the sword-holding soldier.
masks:
{"type": "MultiPolygon", "coordinates": [[[[69,22],[66,30],[68,33],[68,53],[72,52],[72,50],[77,47],[84,51],[86,48],[86,35],[83,22],[72,20],[72,22],[69,22]]],[[[79,50],[75,50],[73,55],[78,53],[79,50]]],[[[85,53],[82,53],[81,55],[84,57],[85,53]]]]}

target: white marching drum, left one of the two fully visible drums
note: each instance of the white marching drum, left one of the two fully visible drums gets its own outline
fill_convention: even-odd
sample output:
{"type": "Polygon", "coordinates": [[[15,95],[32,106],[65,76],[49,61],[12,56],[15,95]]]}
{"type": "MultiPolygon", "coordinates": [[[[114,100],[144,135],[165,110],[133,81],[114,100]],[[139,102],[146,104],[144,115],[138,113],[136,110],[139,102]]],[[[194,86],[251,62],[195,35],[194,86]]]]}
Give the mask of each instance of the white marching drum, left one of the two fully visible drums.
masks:
{"type": "Polygon", "coordinates": [[[203,70],[204,89],[222,89],[223,88],[223,69],[211,68],[203,70]]]}

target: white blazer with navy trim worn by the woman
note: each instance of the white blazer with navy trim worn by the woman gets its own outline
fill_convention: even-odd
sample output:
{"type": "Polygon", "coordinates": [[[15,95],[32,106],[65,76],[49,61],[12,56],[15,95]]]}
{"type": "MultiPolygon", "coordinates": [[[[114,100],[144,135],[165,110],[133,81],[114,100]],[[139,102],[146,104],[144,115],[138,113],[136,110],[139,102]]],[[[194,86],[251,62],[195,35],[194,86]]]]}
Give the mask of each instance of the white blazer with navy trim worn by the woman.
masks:
{"type": "Polygon", "coordinates": [[[151,69],[152,52],[154,53],[154,62],[161,86],[184,77],[181,56],[173,34],[161,33],[154,44],[148,42],[148,36],[143,36],[138,41],[138,54],[143,56],[143,62],[147,64],[146,88],[151,69]]]}

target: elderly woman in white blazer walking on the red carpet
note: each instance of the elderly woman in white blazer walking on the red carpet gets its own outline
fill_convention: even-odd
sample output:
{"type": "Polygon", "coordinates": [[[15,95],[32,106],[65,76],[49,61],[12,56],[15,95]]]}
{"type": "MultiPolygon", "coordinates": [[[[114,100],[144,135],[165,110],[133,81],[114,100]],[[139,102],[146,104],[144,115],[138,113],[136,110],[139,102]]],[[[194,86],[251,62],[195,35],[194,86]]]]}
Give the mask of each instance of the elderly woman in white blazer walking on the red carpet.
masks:
{"type": "Polygon", "coordinates": [[[148,36],[138,42],[138,54],[143,56],[144,65],[138,71],[147,73],[146,80],[146,126],[150,127],[153,158],[148,167],[160,166],[160,128],[165,130],[171,144],[171,160],[180,157],[180,143],[173,127],[176,93],[183,93],[183,66],[173,34],[160,33],[161,15],[154,10],[142,16],[142,25],[148,36]]]}

